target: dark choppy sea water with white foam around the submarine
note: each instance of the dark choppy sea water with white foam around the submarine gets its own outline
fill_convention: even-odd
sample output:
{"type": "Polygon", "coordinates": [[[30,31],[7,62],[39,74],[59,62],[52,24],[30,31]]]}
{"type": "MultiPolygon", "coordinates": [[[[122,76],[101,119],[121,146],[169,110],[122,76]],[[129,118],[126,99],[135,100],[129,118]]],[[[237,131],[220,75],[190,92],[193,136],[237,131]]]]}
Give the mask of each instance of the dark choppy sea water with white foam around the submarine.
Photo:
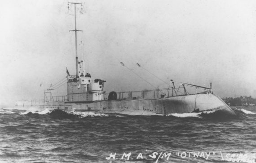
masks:
{"type": "Polygon", "coordinates": [[[0,109],[0,163],[255,162],[256,108],[166,116],[0,109]]]}

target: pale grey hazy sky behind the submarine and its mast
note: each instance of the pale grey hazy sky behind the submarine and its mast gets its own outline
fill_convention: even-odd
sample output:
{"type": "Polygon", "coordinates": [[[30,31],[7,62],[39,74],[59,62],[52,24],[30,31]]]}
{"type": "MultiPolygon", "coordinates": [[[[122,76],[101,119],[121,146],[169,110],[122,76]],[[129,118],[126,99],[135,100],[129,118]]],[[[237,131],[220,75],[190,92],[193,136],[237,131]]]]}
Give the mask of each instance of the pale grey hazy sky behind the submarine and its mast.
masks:
{"type": "MultiPolygon", "coordinates": [[[[167,87],[156,75],[166,83],[212,82],[222,98],[256,98],[255,0],[69,2],[83,4],[76,12],[79,59],[93,79],[106,80],[106,92],[167,87]]],[[[43,99],[66,68],[75,75],[72,29],[68,0],[1,2],[0,104],[43,99]]],[[[59,95],[66,84],[54,90],[59,95]]]]}

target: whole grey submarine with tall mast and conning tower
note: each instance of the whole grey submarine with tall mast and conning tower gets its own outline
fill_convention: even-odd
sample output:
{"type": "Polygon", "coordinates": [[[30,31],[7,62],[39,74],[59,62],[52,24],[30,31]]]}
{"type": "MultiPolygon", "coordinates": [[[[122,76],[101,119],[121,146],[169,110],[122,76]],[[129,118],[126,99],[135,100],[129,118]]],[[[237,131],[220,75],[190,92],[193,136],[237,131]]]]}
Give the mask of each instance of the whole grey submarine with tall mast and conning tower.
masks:
{"type": "MultiPolygon", "coordinates": [[[[44,100],[36,102],[33,106],[43,109],[72,110],[79,112],[93,112],[104,114],[120,114],[131,116],[168,115],[172,113],[192,113],[218,110],[227,116],[235,116],[234,111],[210,87],[186,84],[170,80],[168,88],[108,92],[104,91],[106,80],[93,78],[85,71],[85,61],[79,60],[77,55],[76,5],[75,7],[75,62],[76,74],[67,76],[65,84],[66,96],[52,96],[52,88],[44,91],[44,100]],[[176,84],[179,87],[176,87],[176,84]],[[186,87],[194,87],[196,92],[189,94],[186,87]],[[199,90],[202,90],[201,92],[199,90]],[[182,91],[182,93],[181,93],[182,91]],[[47,96],[50,94],[50,97],[47,96]]],[[[120,63],[125,66],[124,63],[120,63]]],[[[137,63],[138,66],[141,66],[137,63]]]]}

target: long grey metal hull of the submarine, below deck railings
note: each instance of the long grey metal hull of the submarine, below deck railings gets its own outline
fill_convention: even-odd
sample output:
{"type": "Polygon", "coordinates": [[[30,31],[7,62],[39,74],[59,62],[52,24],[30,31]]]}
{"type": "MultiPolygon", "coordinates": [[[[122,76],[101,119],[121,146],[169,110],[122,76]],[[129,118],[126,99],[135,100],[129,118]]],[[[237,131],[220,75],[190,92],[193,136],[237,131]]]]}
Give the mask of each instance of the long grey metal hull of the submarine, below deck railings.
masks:
{"type": "Polygon", "coordinates": [[[44,105],[40,105],[40,109],[75,109],[84,112],[142,116],[219,110],[226,115],[236,115],[220,97],[210,93],[159,99],[47,102],[44,105]]]}

